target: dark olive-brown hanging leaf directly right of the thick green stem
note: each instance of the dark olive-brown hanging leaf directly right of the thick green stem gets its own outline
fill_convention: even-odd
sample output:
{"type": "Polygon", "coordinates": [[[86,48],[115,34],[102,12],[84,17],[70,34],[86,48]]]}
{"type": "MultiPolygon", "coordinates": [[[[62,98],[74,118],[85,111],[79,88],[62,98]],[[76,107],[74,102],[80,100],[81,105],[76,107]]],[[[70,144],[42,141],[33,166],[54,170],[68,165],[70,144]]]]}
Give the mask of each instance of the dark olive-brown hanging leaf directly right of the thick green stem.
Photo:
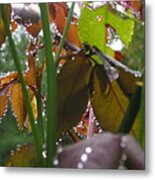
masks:
{"type": "Polygon", "coordinates": [[[58,136],[76,125],[88,102],[92,66],[85,56],[73,56],[58,74],[58,136]]]}

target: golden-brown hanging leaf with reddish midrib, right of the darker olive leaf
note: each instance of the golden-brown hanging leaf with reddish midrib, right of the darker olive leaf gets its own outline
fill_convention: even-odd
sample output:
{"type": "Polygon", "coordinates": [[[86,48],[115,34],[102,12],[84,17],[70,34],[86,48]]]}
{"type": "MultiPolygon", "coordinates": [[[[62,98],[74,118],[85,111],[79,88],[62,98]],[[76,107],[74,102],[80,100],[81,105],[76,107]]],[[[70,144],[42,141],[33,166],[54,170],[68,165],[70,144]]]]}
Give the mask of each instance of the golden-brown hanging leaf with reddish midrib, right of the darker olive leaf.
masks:
{"type": "Polygon", "coordinates": [[[117,132],[128,106],[128,99],[116,81],[110,82],[104,68],[96,65],[92,74],[91,101],[101,127],[117,132]]]}

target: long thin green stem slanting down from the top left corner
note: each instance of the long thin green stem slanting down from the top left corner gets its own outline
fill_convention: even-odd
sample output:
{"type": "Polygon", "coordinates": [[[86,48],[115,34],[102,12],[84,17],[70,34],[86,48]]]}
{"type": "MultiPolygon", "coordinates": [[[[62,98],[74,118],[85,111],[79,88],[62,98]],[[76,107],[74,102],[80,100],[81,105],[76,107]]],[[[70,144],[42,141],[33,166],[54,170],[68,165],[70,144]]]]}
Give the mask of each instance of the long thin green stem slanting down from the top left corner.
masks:
{"type": "Polygon", "coordinates": [[[14,43],[14,41],[12,39],[12,34],[11,34],[11,31],[10,31],[10,28],[9,28],[9,26],[10,26],[9,19],[6,17],[7,12],[8,12],[8,6],[4,5],[3,6],[3,18],[4,18],[5,29],[6,29],[6,33],[8,35],[8,40],[9,40],[9,44],[10,44],[10,47],[11,47],[12,57],[14,59],[16,70],[18,72],[19,80],[20,80],[20,83],[21,83],[22,92],[23,92],[24,100],[25,100],[25,105],[26,105],[26,109],[27,109],[29,119],[30,119],[30,123],[31,123],[31,127],[32,127],[32,133],[33,133],[34,142],[35,142],[35,146],[36,146],[37,156],[38,156],[38,159],[39,159],[39,163],[42,164],[41,138],[40,138],[40,135],[39,135],[38,128],[35,125],[35,119],[34,119],[34,115],[33,115],[33,112],[32,112],[31,103],[30,103],[26,83],[25,83],[24,76],[23,76],[23,73],[22,73],[20,60],[18,58],[16,46],[15,46],[15,43],[14,43]]]}

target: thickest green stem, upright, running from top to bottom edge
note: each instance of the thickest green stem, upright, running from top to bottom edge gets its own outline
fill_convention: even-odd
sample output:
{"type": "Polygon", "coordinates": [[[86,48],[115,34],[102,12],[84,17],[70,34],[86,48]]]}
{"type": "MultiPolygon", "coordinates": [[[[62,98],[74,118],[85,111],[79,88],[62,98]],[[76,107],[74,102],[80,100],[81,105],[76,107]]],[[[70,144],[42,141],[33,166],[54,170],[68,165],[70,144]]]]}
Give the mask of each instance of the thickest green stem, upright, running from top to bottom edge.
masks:
{"type": "Polygon", "coordinates": [[[52,52],[53,37],[50,33],[47,4],[39,4],[45,41],[45,55],[47,62],[47,166],[52,166],[53,156],[56,154],[57,127],[57,96],[56,96],[56,68],[52,52]]]}

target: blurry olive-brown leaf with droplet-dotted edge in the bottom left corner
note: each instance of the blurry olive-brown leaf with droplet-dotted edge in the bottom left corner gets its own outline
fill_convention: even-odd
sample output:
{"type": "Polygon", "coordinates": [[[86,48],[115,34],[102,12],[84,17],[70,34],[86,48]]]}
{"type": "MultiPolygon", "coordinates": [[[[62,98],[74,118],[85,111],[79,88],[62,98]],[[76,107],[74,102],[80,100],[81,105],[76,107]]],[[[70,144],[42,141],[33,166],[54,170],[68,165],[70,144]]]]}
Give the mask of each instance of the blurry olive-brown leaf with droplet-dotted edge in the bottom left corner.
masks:
{"type": "Polygon", "coordinates": [[[11,151],[7,167],[38,167],[34,145],[28,144],[11,151]]]}

